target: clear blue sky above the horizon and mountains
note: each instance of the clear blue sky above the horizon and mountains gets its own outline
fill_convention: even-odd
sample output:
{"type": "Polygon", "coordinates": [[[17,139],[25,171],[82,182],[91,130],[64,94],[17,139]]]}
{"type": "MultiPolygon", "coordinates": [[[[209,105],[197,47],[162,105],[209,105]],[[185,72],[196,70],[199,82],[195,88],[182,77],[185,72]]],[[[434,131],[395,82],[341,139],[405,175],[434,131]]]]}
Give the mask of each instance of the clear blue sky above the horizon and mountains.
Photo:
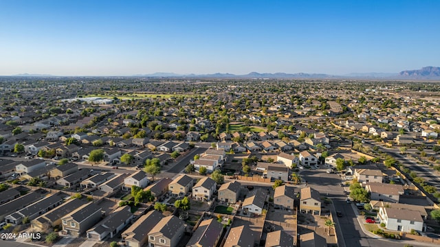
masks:
{"type": "Polygon", "coordinates": [[[440,1],[0,1],[0,75],[440,66],[440,1]]]}

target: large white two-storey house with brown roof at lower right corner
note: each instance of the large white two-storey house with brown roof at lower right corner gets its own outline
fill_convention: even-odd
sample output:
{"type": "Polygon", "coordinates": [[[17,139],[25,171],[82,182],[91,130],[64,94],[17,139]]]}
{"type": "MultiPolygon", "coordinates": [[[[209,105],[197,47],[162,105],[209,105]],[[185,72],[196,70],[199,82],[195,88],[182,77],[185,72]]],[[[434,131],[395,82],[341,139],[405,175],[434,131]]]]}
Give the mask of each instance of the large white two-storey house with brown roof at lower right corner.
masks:
{"type": "Polygon", "coordinates": [[[391,231],[410,233],[412,229],[415,231],[424,230],[423,219],[419,211],[381,207],[378,217],[380,222],[386,225],[386,229],[391,231]]]}

